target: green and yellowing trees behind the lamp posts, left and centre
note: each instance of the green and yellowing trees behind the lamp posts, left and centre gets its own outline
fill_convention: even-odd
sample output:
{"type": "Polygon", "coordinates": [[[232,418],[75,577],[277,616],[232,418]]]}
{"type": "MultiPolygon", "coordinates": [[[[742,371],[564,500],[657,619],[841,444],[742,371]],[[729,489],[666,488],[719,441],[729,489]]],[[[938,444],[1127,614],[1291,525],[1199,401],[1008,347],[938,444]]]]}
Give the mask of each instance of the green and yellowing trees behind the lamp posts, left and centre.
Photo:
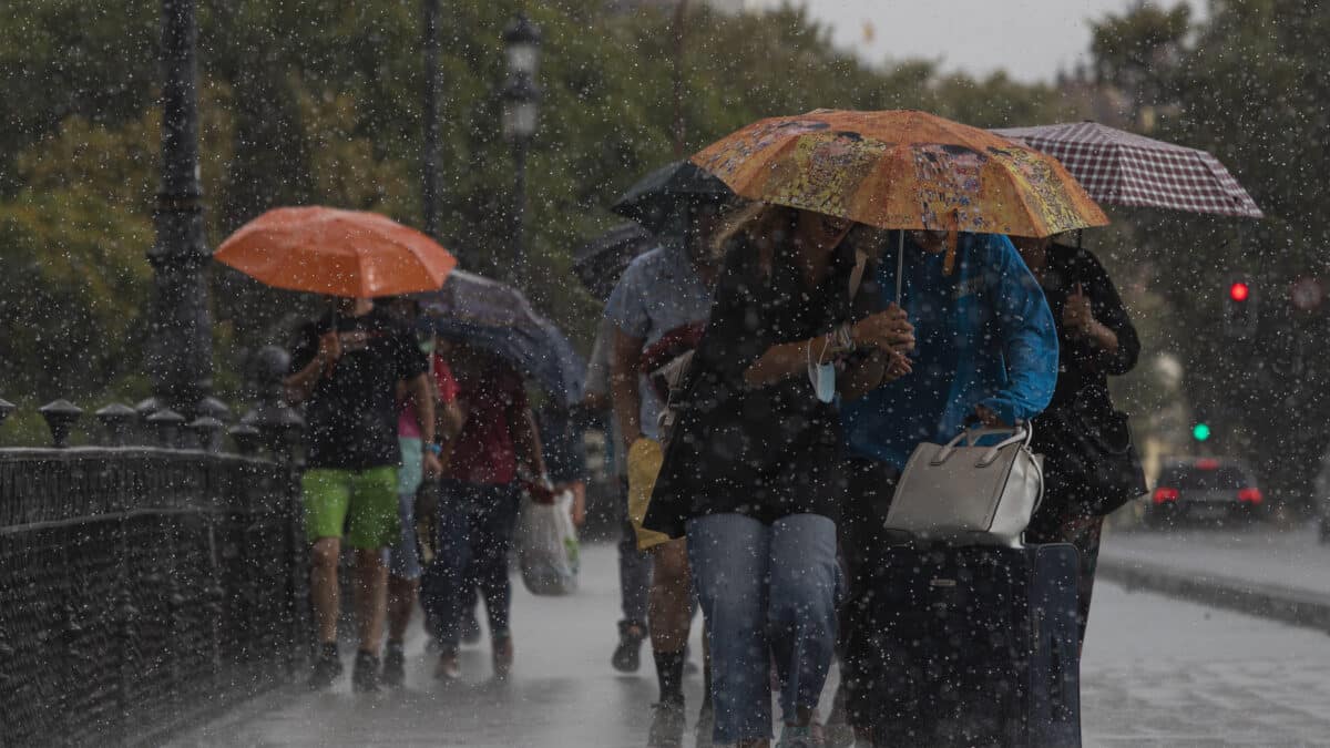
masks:
{"type": "MultiPolygon", "coordinates": [[[[499,277],[511,257],[512,153],[500,136],[503,28],[525,8],[544,35],[541,129],[529,158],[529,277],[575,338],[597,303],[572,252],[617,220],[605,206],[674,157],[672,13],[602,0],[444,3],[443,244],[499,277]]],[[[157,186],[160,4],[16,0],[0,28],[0,395],[144,394],[142,309],[157,186]]],[[[689,152],[758,117],[920,108],[978,125],[1061,118],[1047,87],[866,65],[799,9],[685,27],[689,152]]],[[[201,0],[205,220],[213,246],[277,205],[327,204],[420,222],[422,8],[414,0],[201,0]]],[[[310,301],[214,268],[217,381],[246,350],[286,342],[310,301]]],[[[585,341],[584,341],[585,342],[585,341]]]]}

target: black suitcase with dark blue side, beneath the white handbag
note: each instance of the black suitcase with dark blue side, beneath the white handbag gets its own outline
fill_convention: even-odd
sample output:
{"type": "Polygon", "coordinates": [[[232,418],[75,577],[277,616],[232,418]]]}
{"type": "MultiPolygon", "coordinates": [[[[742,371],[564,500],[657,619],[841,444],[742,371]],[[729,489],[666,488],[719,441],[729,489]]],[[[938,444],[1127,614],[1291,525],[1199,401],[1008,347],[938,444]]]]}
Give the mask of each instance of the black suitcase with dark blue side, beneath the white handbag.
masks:
{"type": "Polygon", "coordinates": [[[1080,745],[1076,550],[900,546],[858,600],[874,745],[1080,745]]]}

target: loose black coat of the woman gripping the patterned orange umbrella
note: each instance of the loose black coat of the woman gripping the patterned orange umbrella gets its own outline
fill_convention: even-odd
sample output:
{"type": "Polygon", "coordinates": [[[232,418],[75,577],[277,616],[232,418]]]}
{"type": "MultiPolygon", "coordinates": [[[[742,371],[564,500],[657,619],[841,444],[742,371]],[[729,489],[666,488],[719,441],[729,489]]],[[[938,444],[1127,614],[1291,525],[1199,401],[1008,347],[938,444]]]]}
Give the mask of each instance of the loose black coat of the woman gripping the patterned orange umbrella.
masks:
{"type": "MultiPolygon", "coordinates": [[[[676,434],[645,526],[672,538],[688,519],[738,512],[761,522],[790,514],[838,519],[841,417],[797,375],[749,387],[743,373],[774,345],[821,335],[851,317],[853,250],[842,246],[826,281],[807,289],[789,257],[767,276],[757,253],[734,248],[684,386],[676,434]]],[[[814,351],[817,354],[817,351],[814,351]]]]}

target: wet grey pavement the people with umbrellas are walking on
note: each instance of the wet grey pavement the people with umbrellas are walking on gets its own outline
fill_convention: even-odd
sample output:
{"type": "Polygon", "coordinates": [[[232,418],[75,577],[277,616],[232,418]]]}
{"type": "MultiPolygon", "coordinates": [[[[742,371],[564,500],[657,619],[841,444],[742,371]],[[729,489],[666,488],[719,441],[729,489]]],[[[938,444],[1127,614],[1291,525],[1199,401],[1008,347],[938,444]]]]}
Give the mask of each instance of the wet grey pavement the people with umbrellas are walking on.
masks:
{"type": "MultiPolygon", "coordinates": [[[[176,744],[644,745],[656,697],[649,651],[636,675],[609,667],[614,550],[587,548],[583,574],[583,590],[569,598],[532,598],[515,579],[516,665],[507,684],[488,681],[481,644],[464,652],[467,684],[440,687],[416,636],[403,691],[356,696],[348,679],[329,693],[279,691],[176,744]]],[[[694,651],[696,643],[694,632],[694,651]]],[[[1096,590],[1083,672],[1087,745],[1326,744],[1327,688],[1322,634],[1112,584],[1096,590]]],[[[694,673],[690,727],[700,691],[694,673]]]]}

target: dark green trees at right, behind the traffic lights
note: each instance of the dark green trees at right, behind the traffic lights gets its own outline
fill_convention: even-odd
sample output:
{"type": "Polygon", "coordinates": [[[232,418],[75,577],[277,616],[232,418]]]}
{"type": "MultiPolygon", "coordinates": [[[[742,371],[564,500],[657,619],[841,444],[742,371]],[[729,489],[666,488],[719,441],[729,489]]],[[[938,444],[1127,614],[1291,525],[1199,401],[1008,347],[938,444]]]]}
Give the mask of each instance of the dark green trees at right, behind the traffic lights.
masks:
{"type": "Polygon", "coordinates": [[[1136,260],[1166,299],[1160,343],[1186,370],[1193,410],[1217,425],[1216,449],[1256,461],[1266,480],[1305,495],[1325,450],[1330,367],[1315,350],[1325,310],[1289,302],[1299,277],[1327,276],[1325,174],[1330,156],[1330,9],[1310,0],[1217,0],[1209,17],[1142,7],[1096,27],[1109,83],[1157,112],[1156,137],[1216,154],[1266,213],[1260,222],[1137,214],[1136,260]],[[1261,323],[1252,341],[1224,335],[1228,286],[1254,280],[1261,323]],[[1261,414],[1256,417],[1254,414],[1261,414]],[[1309,437],[1302,437],[1302,435],[1309,437]]]}

